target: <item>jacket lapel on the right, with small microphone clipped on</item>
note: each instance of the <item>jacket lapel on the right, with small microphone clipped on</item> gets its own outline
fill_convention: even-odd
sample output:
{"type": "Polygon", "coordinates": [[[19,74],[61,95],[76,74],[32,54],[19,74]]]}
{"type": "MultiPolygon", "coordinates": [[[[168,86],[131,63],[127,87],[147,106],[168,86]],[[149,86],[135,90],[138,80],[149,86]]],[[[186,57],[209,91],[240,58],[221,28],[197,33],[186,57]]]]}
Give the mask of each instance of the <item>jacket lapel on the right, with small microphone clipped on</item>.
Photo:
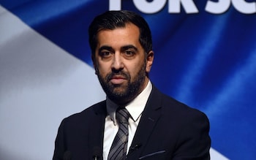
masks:
{"type": "Polygon", "coordinates": [[[148,102],[140,118],[140,123],[132,140],[127,159],[138,159],[143,149],[146,147],[148,138],[154,129],[161,115],[161,94],[154,88],[148,98],[148,102]]]}

